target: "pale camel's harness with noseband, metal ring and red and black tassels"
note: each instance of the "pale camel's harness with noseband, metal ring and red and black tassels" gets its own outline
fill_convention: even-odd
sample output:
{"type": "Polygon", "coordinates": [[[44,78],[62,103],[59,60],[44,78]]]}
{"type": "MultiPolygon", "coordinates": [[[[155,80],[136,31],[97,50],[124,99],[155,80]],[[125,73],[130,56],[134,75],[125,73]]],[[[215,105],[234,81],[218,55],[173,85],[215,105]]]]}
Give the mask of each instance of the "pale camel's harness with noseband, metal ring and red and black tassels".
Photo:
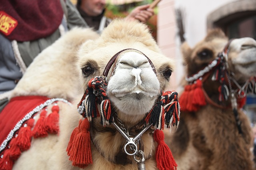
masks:
{"type": "MultiPolygon", "coordinates": [[[[141,136],[148,129],[152,129],[152,132],[154,131],[154,141],[158,143],[155,155],[158,169],[174,170],[176,169],[177,164],[173,159],[169,147],[164,143],[164,134],[161,130],[164,129],[164,124],[166,124],[167,127],[172,127],[174,125],[178,126],[180,116],[178,93],[175,91],[161,91],[161,96],[158,97],[155,105],[146,114],[145,118],[135,126],[139,131],[138,134],[133,135],[129,133],[128,129],[124,127],[122,121],[117,117],[116,111],[106,94],[106,88],[108,85],[107,76],[110,68],[112,65],[116,64],[115,67],[112,68],[112,75],[114,75],[115,68],[118,64],[116,61],[118,56],[128,51],[136,51],[137,53],[144,55],[136,49],[124,49],[119,51],[106,65],[103,72],[104,78],[97,76],[88,82],[84,96],[78,104],[78,112],[84,118],[80,120],[78,127],[72,132],[67,147],[68,156],[70,156],[69,159],[73,162],[73,166],[78,166],[80,168],[84,168],[88,166],[88,164],[92,164],[90,131],[92,132],[94,129],[90,129],[90,127],[92,128],[94,125],[90,126],[90,122],[93,118],[100,117],[100,124],[102,125],[102,128],[106,127],[109,129],[108,125],[112,124],[126,139],[127,143],[124,145],[124,152],[128,156],[134,157],[139,170],[145,170],[146,160],[142,144],[140,144],[140,141],[142,141],[141,136]],[[100,110],[98,110],[98,105],[100,106],[100,110]],[[141,127],[142,129],[139,130],[141,127]]],[[[148,59],[152,70],[156,74],[156,69],[153,63],[146,55],[144,56],[148,59]]],[[[92,124],[94,123],[92,122],[92,124]]],[[[93,139],[92,143],[94,143],[93,139]]]]}

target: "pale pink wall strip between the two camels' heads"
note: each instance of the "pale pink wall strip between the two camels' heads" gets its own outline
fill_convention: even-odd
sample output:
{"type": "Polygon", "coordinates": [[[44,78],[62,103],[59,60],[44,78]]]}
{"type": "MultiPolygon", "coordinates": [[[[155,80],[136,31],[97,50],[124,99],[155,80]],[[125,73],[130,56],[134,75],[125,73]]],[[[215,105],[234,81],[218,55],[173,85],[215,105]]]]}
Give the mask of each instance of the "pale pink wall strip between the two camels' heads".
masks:
{"type": "Polygon", "coordinates": [[[164,55],[175,62],[175,70],[172,72],[170,86],[167,90],[180,92],[180,80],[183,76],[182,59],[180,56],[180,42],[177,39],[175,0],[162,0],[158,4],[157,40],[164,55]]]}

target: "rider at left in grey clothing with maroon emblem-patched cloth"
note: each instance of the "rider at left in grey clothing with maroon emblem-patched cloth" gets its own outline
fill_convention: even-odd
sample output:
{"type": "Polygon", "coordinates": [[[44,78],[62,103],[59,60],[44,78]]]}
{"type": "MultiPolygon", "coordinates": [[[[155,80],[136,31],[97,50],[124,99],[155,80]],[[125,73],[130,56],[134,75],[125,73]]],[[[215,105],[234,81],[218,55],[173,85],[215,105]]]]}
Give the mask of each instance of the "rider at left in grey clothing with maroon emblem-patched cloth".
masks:
{"type": "Polygon", "coordinates": [[[88,27],[70,0],[1,2],[0,111],[33,59],[74,26],[88,27]]]}

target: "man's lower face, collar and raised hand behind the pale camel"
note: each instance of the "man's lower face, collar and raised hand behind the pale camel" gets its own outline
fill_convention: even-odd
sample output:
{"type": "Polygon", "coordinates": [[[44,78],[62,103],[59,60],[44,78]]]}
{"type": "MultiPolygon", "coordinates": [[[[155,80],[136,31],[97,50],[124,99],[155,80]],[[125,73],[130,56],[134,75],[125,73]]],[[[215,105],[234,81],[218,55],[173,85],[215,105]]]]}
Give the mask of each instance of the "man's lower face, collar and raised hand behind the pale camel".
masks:
{"type": "MultiPolygon", "coordinates": [[[[142,5],[134,8],[125,20],[139,20],[144,23],[154,15],[154,11],[149,8],[150,4],[142,5]]],[[[93,27],[98,33],[101,33],[110,22],[110,18],[104,16],[106,7],[106,0],[78,0],[76,8],[86,21],[86,23],[93,27]]]]}

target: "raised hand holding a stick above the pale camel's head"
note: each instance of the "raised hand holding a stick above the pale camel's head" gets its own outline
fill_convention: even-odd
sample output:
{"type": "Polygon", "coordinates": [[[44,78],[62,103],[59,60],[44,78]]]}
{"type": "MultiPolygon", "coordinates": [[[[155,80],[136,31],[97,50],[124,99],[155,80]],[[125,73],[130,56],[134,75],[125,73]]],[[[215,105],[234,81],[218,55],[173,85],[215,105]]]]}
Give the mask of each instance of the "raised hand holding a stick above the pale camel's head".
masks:
{"type": "Polygon", "coordinates": [[[132,12],[128,16],[126,16],[126,20],[139,20],[146,23],[150,17],[154,15],[154,10],[149,8],[150,4],[142,5],[134,8],[132,12]]]}

